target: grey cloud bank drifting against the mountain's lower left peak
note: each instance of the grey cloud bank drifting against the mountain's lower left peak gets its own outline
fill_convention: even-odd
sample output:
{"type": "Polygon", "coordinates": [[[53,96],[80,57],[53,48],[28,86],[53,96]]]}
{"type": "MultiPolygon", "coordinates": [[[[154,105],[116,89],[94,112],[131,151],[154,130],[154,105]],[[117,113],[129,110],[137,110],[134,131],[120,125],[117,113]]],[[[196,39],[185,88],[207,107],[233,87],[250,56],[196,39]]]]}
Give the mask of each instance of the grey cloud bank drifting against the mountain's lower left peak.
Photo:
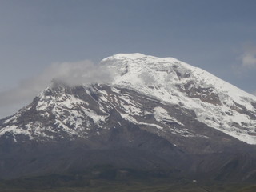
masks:
{"type": "Polygon", "coordinates": [[[95,65],[89,60],[81,62],[55,62],[34,78],[19,82],[18,86],[0,92],[0,118],[14,114],[22,106],[30,103],[46,86],[57,79],[68,86],[109,83],[111,75],[106,67],[95,65]]]}

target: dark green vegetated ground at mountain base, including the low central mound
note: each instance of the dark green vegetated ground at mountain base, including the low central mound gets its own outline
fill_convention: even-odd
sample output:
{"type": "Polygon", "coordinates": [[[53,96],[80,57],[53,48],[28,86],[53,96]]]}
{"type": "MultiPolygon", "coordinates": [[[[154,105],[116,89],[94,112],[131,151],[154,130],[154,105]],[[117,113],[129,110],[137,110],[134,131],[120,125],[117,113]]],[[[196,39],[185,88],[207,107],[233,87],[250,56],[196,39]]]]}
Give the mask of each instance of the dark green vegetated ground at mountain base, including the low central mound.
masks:
{"type": "Polygon", "coordinates": [[[193,181],[172,178],[169,172],[94,166],[83,174],[51,174],[0,181],[1,192],[254,192],[249,182],[193,181]]]}

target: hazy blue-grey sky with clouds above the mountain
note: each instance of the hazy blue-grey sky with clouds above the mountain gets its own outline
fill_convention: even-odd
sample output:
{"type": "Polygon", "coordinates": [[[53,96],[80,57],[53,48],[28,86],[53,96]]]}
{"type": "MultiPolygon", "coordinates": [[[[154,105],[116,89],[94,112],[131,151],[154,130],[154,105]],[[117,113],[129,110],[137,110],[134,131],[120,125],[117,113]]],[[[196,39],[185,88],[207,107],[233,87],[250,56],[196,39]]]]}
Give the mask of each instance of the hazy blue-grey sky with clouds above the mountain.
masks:
{"type": "Polygon", "coordinates": [[[0,118],[55,76],[118,53],[178,58],[256,95],[255,10],[254,0],[0,0],[0,118]]]}

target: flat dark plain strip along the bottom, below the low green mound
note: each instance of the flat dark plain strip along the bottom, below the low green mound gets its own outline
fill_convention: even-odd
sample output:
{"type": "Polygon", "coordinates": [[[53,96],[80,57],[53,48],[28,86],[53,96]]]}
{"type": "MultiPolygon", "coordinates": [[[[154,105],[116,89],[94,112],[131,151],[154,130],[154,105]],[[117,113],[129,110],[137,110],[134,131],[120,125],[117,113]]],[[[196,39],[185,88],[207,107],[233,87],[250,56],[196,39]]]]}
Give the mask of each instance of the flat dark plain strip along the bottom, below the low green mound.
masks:
{"type": "Polygon", "coordinates": [[[51,175],[0,182],[1,192],[254,192],[251,183],[194,182],[168,178],[84,179],[51,175]],[[67,179],[68,178],[68,179],[67,179]]]}

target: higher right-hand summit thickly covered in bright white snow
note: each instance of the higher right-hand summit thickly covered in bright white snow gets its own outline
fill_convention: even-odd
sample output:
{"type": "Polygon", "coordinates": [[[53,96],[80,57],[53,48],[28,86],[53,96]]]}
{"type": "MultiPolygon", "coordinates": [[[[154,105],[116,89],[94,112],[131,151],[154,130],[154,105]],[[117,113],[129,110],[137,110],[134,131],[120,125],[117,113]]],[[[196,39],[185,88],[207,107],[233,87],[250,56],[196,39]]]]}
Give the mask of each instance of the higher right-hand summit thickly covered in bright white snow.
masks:
{"type": "Polygon", "coordinates": [[[175,58],[115,54],[102,60],[114,86],[126,87],[194,110],[199,121],[256,144],[256,97],[175,58]]]}

